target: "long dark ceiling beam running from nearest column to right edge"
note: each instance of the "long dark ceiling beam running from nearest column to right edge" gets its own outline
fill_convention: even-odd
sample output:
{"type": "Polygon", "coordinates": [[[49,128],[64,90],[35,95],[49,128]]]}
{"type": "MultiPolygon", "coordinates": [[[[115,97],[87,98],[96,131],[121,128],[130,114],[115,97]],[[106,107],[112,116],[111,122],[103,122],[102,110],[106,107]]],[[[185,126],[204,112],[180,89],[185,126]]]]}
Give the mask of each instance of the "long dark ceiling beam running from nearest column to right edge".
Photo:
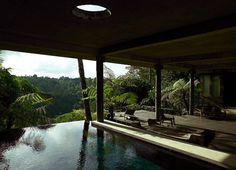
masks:
{"type": "Polygon", "coordinates": [[[160,43],[168,40],[174,40],[198,34],[204,34],[224,28],[236,26],[236,13],[218,17],[197,24],[184,26],[181,28],[155,33],[145,37],[139,37],[130,41],[113,44],[101,48],[99,51],[102,55],[115,54],[125,52],[131,49],[139,49],[144,46],[149,46],[155,43],[160,43]]]}

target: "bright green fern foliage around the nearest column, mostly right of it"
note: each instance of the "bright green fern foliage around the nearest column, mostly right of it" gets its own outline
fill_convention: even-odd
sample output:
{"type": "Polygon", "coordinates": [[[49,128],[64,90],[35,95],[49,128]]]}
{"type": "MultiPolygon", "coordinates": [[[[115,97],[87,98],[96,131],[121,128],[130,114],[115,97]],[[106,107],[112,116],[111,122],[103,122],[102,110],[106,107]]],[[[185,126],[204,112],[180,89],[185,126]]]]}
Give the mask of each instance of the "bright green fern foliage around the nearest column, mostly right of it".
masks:
{"type": "MultiPolygon", "coordinates": [[[[106,79],[104,84],[104,106],[105,109],[125,109],[131,105],[140,103],[146,97],[150,85],[141,79],[122,76],[116,79],[106,79]]],[[[91,101],[96,98],[96,88],[90,86],[88,95],[91,101]]]]}

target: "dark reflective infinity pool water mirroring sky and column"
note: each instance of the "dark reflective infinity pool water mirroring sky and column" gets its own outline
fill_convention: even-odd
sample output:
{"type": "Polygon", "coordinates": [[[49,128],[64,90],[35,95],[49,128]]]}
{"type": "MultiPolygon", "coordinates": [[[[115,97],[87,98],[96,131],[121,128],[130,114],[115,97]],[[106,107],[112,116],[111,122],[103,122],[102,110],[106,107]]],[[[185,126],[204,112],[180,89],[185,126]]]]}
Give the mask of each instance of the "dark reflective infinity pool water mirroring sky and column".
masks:
{"type": "Polygon", "coordinates": [[[61,123],[0,133],[0,169],[162,169],[143,156],[145,150],[138,142],[84,121],[61,123]]]}

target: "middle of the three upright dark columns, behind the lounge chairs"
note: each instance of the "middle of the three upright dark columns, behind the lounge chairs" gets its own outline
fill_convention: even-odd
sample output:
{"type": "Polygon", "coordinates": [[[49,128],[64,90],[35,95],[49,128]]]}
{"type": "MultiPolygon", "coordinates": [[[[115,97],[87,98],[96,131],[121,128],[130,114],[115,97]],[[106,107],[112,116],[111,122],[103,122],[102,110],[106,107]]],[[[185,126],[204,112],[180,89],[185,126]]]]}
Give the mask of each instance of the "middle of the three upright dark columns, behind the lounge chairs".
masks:
{"type": "Polygon", "coordinates": [[[162,65],[156,65],[156,94],[155,94],[155,112],[156,112],[156,119],[159,120],[161,116],[161,69],[163,68],[162,65]]]}

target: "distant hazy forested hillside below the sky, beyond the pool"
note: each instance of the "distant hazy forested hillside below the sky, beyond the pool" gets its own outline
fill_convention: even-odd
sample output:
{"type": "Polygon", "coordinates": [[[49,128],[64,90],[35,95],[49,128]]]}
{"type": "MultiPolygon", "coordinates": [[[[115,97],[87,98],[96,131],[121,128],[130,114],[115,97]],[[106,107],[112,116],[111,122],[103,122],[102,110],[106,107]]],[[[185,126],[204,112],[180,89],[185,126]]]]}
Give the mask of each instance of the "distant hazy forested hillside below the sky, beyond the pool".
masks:
{"type": "MultiPolygon", "coordinates": [[[[48,115],[54,117],[63,113],[72,111],[73,109],[83,109],[83,101],[80,79],[61,77],[49,78],[49,77],[37,77],[28,76],[24,77],[32,85],[39,88],[40,91],[50,94],[55,102],[48,107],[48,115]]],[[[86,79],[88,86],[95,85],[95,79],[86,79]]]]}

